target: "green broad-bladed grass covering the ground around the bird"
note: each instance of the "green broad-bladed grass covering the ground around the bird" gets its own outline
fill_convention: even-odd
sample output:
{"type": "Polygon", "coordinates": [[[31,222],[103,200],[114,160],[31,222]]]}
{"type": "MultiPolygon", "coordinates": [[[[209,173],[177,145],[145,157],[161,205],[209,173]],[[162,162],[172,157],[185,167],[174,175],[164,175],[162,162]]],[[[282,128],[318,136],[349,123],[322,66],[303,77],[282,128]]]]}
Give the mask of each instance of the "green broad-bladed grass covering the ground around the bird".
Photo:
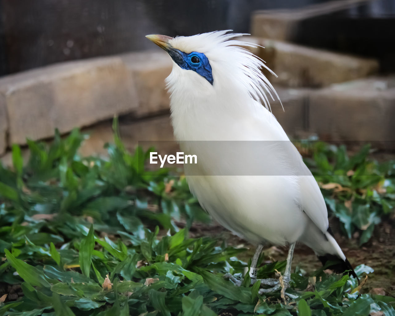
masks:
{"type": "MultiPolygon", "coordinates": [[[[395,315],[395,298],[363,293],[355,279],[324,267],[296,267],[287,292],[297,298],[287,303],[280,292],[258,295],[245,286],[248,276],[233,286],[222,276],[241,275],[244,249],[190,238],[193,222],[210,218],[185,179],[146,171],[147,152],[130,154],[117,133],[108,159],[80,157],[85,137],[74,130],[66,139],[56,133],[49,147],[28,141],[26,164],[14,146],[13,168],[0,165],[0,315],[395,315]]],[[[343,147],[299,146],[344,233],[369,240],[393,209],[393,162],[369,160],[366,148],[349,158],[343,147]]],[[[263,265],[258,277],[284,267],[263,265]]],[[[373,272],[355,270],[362,279],[373,272]]]]}

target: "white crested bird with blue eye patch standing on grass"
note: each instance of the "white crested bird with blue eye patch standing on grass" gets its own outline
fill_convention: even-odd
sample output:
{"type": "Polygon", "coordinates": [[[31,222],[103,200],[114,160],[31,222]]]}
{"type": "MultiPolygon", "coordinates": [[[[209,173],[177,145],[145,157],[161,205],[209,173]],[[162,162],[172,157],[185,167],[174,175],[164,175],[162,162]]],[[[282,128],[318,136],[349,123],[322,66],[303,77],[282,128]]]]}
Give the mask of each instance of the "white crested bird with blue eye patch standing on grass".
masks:
{"type": "MultiPolygon", "coordinates": [[[[267,95],[278,96],[261,72],[268,68],[233,40],[242,35],[147,36],[173,60],[166,83],[174,135],[184,152],[198,157],[198,164],[184,165],[190,190],[216,221],[258,245],[252,278],[266,241],[290,245],[286,287],[298,241],[323,264],[335,261],[331,269],[356,277],[333,238],[317,182],[269,111],[267,95]]],[[[261,293],[280,288],[273,279],[261,284],[273,286],[261,293]]]]}

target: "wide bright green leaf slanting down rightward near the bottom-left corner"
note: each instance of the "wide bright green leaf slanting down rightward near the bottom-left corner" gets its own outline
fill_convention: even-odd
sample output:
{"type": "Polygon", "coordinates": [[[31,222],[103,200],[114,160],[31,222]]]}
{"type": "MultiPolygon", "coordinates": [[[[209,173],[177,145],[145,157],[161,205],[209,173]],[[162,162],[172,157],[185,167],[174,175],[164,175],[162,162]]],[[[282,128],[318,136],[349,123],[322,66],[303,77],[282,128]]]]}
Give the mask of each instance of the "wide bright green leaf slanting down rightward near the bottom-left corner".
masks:
{"type": "Polygon", "coordinates": [[[28,265],[26,262],[15,258],[11,252],[4,249],[9,264],[17,271],[19,276],[31,286],[47,287],[51,284],[46,280],[42,271],[28,265]]]}

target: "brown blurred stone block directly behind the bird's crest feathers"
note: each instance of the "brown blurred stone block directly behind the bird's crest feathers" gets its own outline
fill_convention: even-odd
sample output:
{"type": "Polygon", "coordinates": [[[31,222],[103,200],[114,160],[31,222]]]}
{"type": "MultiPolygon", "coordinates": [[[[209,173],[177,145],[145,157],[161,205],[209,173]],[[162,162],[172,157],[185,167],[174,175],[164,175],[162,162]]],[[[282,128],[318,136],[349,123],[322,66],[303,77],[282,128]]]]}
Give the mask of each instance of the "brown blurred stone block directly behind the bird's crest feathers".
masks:
{"type": "Polygon", "coordinates": [[[374,59],[331,53],[282,41],[245,38],[258,43],[258,56],[265,60],[277,78],[263,70],[271,81],[286,87],[324,87],[332,83],[350,81],[376,73],[378,62],[374,59]]]}

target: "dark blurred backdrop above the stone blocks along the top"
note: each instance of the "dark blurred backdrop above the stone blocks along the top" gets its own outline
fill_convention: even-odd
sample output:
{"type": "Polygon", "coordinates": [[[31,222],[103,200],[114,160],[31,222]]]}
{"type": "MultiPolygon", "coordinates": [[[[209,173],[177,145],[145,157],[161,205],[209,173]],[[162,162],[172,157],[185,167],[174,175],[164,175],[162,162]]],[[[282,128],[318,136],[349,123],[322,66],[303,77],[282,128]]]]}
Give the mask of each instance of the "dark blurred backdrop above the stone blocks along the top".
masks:
{"type": "MultiPolygon", "coordinates": [[[[250,30],[251,12],[325,0],[0,0],[0,76],[81,58],[152,49],[146,34],[250,30]]],[[[374,57],[395,70],[395,0],[355,4],[307,19],[293,39],[374,57]]]]}

